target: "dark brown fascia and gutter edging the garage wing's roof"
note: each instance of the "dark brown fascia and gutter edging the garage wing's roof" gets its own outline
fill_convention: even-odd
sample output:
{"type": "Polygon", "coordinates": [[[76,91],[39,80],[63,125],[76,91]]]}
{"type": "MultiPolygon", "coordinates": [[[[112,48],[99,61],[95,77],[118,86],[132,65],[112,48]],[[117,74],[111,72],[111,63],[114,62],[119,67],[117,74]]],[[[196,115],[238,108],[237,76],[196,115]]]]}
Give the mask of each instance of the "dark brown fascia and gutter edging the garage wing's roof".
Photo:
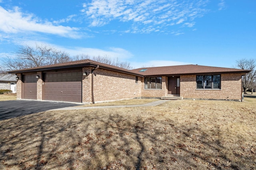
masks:
{"type": "Polygon", "coordinates": [[[111,70],[115,72],[120,72],[124,74],[131,74],[134,76],[140,76],[143,77],[141,74],[136,74],[134,72],[126,71],[126,70],[121,70],[121,69],[115,69],[115,68],[110,68],[108,66],[103,66],[101,64],[96,64],[96,63],[82,63],[82,64],[72,64],[72,65],[64,65],[64,66],[49,66],[49,67],[42,67],[42,68],[28,68],[24,70],[14,70],[14,71],[9,71],[9,74],[17,74],[17,73],[26,73],[26,72],[35,72],[35,71],[48,71],[48,70],[59,70],[59,69],[65,69],[65,68],[77,68],[77,67],[97,67],[100,66],[99,68],[102,68],[104,70],[111,70]]]}

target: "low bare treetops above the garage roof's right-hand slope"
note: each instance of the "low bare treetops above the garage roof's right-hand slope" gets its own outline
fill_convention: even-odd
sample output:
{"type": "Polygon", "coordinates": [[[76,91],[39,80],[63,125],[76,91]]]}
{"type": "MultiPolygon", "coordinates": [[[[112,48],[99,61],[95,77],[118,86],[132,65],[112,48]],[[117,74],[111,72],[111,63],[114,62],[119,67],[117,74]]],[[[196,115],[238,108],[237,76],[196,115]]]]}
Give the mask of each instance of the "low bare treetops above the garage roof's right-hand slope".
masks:
{"type": "Polygon", "coordinates": [[[74,57],[75,60],[84,60],[84,59],[91,59],[93,61],[97,61],[97,62],[100,62],[100,63],[104,63],[104,64],[109,64],[109,65],[113,65],[113,66],[118,66],[118,67],[121,67],[121,68],[125,68],[125,69],[128,69],[128,70],[131,70],[133,69],[132,66],[130,66],[130,63],[127,62],[127,61],[119,61],[118,58],[110,58],[110,57],[107,57],[107,56],[93,56],[93,57],[90,57],[89,55],[85,55],[85,54],[80,54],[80,55],[76,55],[74,57]]]}

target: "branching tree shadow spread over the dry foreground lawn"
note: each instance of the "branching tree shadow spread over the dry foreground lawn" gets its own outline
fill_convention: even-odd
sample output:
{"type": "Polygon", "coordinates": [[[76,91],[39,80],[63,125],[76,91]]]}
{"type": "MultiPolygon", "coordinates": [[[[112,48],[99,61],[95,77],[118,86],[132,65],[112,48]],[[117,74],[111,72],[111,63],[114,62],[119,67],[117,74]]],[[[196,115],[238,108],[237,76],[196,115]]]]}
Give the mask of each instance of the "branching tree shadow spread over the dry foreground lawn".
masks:
{"type": "Polygon", "coordinates": [[[250,155],[236,155],[244,164],[231,160],[221,137],[212,137],[221,134],[217,127],[202,131],[193,123],[179,126],[171,119],[143,116],[149,112],[136,117],[129,109],[125,116],[118,109],[108,112],[48,111],[0,121],[0,168],[241,169],[247,164],[253,169],[255,165],[250,155]]]}

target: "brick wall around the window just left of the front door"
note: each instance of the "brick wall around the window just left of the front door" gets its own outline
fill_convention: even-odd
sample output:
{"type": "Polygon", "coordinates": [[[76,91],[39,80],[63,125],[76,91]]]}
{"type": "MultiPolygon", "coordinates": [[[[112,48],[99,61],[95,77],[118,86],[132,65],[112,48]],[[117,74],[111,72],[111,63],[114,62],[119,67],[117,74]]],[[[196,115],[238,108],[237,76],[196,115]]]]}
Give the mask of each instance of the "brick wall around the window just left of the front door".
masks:
{"type": "Polygon", "coordinates": [[[142,85],[141,85],[141,96],[142,97],[157,97],[160,98],[161,96],[167,95],[167,82],[168,78],[163,76],[162,77],[162,89],[144,89],[144,77],[142,78],[142,85]]]}

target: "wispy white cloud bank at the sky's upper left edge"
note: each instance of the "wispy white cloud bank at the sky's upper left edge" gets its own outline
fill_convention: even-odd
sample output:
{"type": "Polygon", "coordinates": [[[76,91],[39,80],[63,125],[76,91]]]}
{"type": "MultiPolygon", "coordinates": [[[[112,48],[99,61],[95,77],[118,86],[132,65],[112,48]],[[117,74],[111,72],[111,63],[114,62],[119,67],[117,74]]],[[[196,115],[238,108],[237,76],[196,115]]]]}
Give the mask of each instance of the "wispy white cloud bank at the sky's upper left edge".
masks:
{"type": "Polygon", "coordinates": [[[6,10],[0,6],[0,16],[0,32],[3,33],[40,32],[75,39],[81,37],[76,27],[54,25],[49,21],[42,21],[33,14],[21,12],[18,7],[6,10]]]}

